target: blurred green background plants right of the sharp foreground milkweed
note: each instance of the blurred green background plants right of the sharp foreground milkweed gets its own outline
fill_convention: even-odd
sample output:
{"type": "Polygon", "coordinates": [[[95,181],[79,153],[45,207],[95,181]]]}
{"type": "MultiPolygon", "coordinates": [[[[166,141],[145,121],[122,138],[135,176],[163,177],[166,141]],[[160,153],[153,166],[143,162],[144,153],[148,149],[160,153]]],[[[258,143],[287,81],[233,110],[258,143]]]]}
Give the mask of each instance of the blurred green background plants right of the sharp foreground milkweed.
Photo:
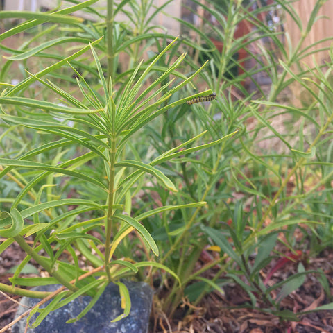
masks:
{"type": "MultiPolygon", "coordinates": [[[[210,59],[200,76],[219,97],[208,108],[199,103],[191,106],[191,112],[185,112],[184,106],[169,110],[161,124],[162,130],[148,130],[153,133],[154,142],[162,141],[163,147],[176,145],[178,139],[191,136],[191,131],[200,133],[207,129],[213,141],[234,130],[238,133],[237,139],[164,165],[169,173],[176,172],[178,197],[207,200],[208,205],[198,207],[194,214],[179,211],[171,218],[152,216],[147,222],[151,234],[161,240],[157,241],[164,253],[161,262],[172,268],[182,282],[181,288],[176,283],[169,288],[164,311],[175,314],[183,296],[180,289],[197,304],[207,291],[216,289],[223,293],[223,285],[236,282],[248,293],[250,306],[256,307],[259,302],[265,311],[282,319],[297,320],[292,311],[280,310],[283,298],[302,285],[305,275],[314,273],[305,270],[299,253],[314,253],[332,239],[332,232],[328,231],[332,219],[332,186],[327,186],[332,182],[331,148],[327,150],[332,138],[329,79],[332,56],[325,65],[302,67],[302,60],[311,53],[310,48],[302,51],[302,43],[323,3],[316,3],[307,26],[303,26],[287,1],[257,9],[253,9],[251,1],[247,4],[226,1],[223,8],[217,3],[212,7],[194,2],[215,19],[210,21],[208,15],[202,17],[203,30],[187,22],[182,24],[187,31],[196,31],[200,45],[194,49],[193,58],[210,59]],[[280,26],[270,26],[260,19],[274,11],[291,15],[297,22],[302,39],[296,48],[286,49],[280,26]],[[244,21],[252,28],[246,35],[234,37],[237,25],[244,21]],[[215,40],[223,41],[222,51],[213,44],[207,31],[212,31],[215,40]],[[248,58],[255,60],[250,69],[237,60],[237,53],[242,49],[248,58]],[[234,68],[242,69],[243,74],[235,73],[234,68]],[[303,69],[300,71],[300,68],[303,69]],[[265,90],[257,83],[258,73],[271,80],[270,89],[265,90]],[[244,81],[249,83],[249,80],[256,87],[255,94],[244,89],[244,81]],[[292,100],[285,101],[285,91],[294,83],[299,83],[311,95],[311,103],[305,108],[293,105],[292,100]],[[289,114],[297,119],[299,127],[288,128],[286,121],[282,123],[284,132],[280,133],[272,123],[289,114]],[[289,188],[291,180],[295,182],[292,189],[289,188]],[[296,229],[301,230],[302,241],[293,237],[296,229]],[[309,238],[311,244],[307,241],[309,238]],[[298,273],[268,287],[259,272],[282,255],[277,252],[279,244],[289,249],[287,257],[298,260],[298,273]],[[210,255],[207,246],[221,252],[210,255]],[[201,262],[205,255],[210,256],[209,261],[201,262]],[[274,290],[278,290],[276,298],[272,297],[274,290]]],[[[189,65],[196,69],[200,62],[197,66],[189,65]]],[[[174,198],[162,194],[160,197],[162,203],[173,203],[174,198]]],[[[316,271],[316,276],[330,298],[325,276],[321,271],[316,271]]],[[[323,309],[330,307],[332,304],[323,309]]]]}

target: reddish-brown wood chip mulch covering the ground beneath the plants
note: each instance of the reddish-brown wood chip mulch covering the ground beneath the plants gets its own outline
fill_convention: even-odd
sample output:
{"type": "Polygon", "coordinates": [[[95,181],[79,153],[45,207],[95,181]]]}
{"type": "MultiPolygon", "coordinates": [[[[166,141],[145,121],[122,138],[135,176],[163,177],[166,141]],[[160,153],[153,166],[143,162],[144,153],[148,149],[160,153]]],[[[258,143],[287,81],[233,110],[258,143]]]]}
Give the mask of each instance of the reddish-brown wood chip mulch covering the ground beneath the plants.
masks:
{"type": "MultiPolygon", "coordinates": [[[[23,251],[12,244],[0,257],[0,282],[8,283],[8,278],[12,274],[6,271],[19,264],[25,257],[23,251]]],[[[278,260],[274,259],[269,267],[263,271],[264,278],[278,267],[278,260]],[[265,273],[266,272],[266,273],[265,273]]],[[[301,259],[299,258],[298,262],[301,259]]],[[[333,250],[326,249],[316,258],[305,258],[302,260],[307,270],[317,270],[320,268],[327,278],[333,295],[333,250]]],[[[285,280],[288,276],[296,273],[298,262],[287,260],[283,266],[279,266],[268,280],[268,284],[273,284],[285,280]]],[[[318,276],[318,275],[317,275],[318,276]]],[[[284,298],[281,302],[281,309],[288,309],[294,313],[316,309],[321,305],[332,302],[333,300],[325,294],[323,287],[318,282],[317,276],[309,274],[295,292],[284,298]]],[[[333,311],[316,311],[300,316],[300,321],[281,321],[278,316],[244,307],[249,304],[250,299],[243,289],[237,284],[229,284],[224,287],[225,294],[210,293],[200,304],[193,307],[191,314],[182,318],[168,321],[164,316],[157,320],[155,332],[189,332],[189,333],[333,333],[333,311]]],[[[274,295],[273,295],[274,296],[274,295]]],[[[14,300],[19,300],[13,296],[14,300]]],[[[5,327],[12,321],[17,309],[17,303],[3,295],[0,295],[0,328],[5,327]]],[[[184,308],[191,307],[185,304],[184,308]]],[[[258,298],[257,307],[264,309],[264,302],[258,298]]],[[[180,311],[185,313],[185,311],[180,311]]],[[[153,323],[153,320],[152,320],[153,323]]],[[[7,332],[10,332],[8,330],[7,332]]],[[[149,333],[153,332],[153,325],[149,333]]]]}

